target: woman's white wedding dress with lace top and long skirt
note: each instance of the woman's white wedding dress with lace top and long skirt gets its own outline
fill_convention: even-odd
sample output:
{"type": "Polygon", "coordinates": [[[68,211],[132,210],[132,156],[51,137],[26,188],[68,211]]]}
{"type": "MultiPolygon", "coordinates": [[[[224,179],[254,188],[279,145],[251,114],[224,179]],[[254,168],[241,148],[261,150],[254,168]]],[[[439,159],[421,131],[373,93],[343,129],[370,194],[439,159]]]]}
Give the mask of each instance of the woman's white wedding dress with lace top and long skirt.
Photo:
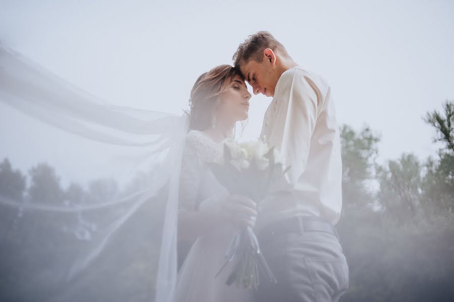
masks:
{"type": "MultiPolygon", "coordinates": [[[[208,203],[219,202],[219,197],[228,194],[206,165],[221,154],[221,143],[214,142],[200,131],[188,133],[180,176],[180,209],[196,211],[208,203]]],[[[225,263],[225,253],[235,231],[233,226],[218,226],[196,239],[178,274],[175,302],[253,300],[253,289],[225,284],[234,261],[215,278],[225,263]]]]}

